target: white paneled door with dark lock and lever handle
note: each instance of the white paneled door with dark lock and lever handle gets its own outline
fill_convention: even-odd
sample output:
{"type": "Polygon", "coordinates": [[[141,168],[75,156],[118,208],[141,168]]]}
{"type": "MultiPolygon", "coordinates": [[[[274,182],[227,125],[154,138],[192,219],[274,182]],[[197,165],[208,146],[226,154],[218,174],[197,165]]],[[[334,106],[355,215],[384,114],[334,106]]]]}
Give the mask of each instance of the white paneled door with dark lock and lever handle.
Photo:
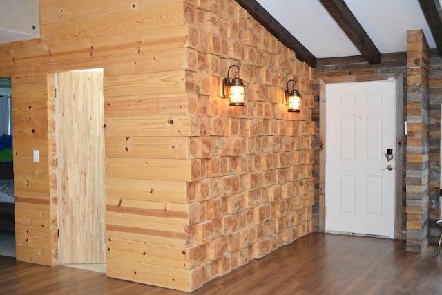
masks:
{"type": "Polygon", "coordinates": [[[395,97],[395,81],[326,85],[326,231],[394,236],[395,97]]]}

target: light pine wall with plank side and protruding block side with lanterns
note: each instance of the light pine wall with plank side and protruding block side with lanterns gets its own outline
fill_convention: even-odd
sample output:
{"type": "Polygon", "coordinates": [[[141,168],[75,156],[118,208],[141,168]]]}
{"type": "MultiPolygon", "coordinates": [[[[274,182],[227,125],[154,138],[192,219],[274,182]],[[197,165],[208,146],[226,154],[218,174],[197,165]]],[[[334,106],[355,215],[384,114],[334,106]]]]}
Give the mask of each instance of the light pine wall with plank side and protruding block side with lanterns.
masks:
{"type": "Polygon", "coordinates": [[[190,292],[313,230],[313,70],[235,1],[41,0],[40,16],[41,38],[0,44],[18,260],[58,263],[51,81],[80,68],[104,68],[108,276],[190,292]],[[231,64],[242,108],[220,98],[231,64]]]}

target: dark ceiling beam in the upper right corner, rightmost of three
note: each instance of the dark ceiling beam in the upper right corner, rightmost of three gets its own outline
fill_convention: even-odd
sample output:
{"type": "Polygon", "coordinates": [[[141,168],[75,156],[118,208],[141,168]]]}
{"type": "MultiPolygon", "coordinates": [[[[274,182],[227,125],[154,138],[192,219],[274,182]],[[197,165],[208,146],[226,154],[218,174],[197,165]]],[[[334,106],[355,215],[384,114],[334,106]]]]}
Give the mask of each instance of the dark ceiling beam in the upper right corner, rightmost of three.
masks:
{"type": "Polygon", "coordinates": [[[442,9],[439,0],[419,0],[423,15],[427,19],[437,51],[442,57],[442,9]]]}

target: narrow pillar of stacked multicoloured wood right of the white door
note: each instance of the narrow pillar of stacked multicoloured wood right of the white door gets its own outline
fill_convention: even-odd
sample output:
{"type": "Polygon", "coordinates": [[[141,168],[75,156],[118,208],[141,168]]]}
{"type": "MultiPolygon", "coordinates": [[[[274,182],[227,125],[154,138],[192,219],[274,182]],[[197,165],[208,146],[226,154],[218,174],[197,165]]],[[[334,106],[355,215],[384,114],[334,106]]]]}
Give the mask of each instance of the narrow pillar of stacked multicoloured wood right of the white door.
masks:
{"type": "Polygon", "coordinates": [[[430,238],[430,48],[422,30],[407,32],[407,67],[407,251],[421,252],[430,238]]]}

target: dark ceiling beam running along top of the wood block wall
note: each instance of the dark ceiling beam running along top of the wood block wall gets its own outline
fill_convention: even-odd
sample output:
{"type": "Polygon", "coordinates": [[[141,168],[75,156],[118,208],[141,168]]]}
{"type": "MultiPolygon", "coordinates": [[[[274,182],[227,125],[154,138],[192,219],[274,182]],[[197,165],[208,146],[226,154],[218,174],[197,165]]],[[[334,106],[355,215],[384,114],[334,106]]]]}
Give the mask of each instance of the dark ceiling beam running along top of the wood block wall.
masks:
{"type": "Polygon", "coordinates": [[[249,14],[256,19],[272,35],[278,38],[282,44],[294,50],[296,58],[305,62],[312,68],[316,68],[316,57],[310,53],[300,42],[290,34],[267,10],[265,10],[256,0],[236,0],[240,6],[245,8],[249,14]]]}

